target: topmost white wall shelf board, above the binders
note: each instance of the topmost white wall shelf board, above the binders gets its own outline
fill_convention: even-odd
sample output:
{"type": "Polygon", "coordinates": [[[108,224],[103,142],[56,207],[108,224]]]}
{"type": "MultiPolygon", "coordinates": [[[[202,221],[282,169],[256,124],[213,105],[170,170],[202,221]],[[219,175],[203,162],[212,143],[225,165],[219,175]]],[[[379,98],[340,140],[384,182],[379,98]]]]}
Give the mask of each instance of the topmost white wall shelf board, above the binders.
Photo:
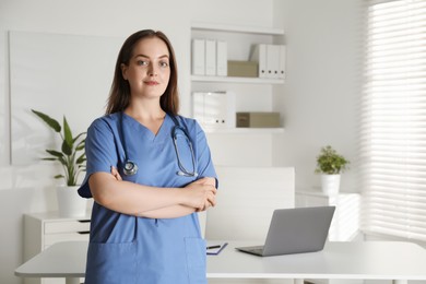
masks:
{"type": "Polygon", "coordinates": [[[203,22],[193,22],[192,29],[221,31],[230,33],[262,34],[262,35],[284,35],[284,29],[276,27],[242,26],[227,24],[212,24],[203,22]]]}

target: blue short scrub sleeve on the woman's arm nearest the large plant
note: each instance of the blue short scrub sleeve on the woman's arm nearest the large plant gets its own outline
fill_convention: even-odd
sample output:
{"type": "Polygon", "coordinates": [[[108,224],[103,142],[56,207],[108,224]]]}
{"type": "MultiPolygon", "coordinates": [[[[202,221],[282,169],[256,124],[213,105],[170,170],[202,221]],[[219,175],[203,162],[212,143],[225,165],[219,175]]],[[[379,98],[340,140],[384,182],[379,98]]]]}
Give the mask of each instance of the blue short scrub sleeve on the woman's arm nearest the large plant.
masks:
{"type": "Polygon", "coordinates": [[[110,173],[113,165],[117,165],[117,149],[114,132],[106,119],[95,120],[87,130],[85,142],[86,176],[79,189],[83,198],[92,198],[88,187],[88,178],[94,173],[110,173]]]}

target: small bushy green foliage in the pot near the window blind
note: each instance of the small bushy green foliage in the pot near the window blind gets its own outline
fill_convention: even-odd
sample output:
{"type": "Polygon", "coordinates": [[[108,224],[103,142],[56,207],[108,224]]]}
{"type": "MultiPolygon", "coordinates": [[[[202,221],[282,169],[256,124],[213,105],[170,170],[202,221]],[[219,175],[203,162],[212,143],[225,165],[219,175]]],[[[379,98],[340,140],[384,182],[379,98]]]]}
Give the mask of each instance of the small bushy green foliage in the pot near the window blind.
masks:
{"type": "Polygon", "coordinates": [[[317,168],[315,173],[326,175],[339,175],[348,168],[350,161],[330,145],[321,147],[317,156],[317,168]]]}

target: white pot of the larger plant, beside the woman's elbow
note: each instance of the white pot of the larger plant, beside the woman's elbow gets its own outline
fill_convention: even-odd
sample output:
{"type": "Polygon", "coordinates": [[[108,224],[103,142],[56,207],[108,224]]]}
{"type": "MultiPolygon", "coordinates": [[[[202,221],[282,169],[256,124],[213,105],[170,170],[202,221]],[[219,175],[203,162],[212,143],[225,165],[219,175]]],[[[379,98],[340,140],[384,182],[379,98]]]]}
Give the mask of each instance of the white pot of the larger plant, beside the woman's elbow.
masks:
{"type": "Polygon", "coordinates": [[[61,217],[82,217],[86,215],[87,199],[79,196],[79,187],[57,187],[58,210],[61,217]]]}

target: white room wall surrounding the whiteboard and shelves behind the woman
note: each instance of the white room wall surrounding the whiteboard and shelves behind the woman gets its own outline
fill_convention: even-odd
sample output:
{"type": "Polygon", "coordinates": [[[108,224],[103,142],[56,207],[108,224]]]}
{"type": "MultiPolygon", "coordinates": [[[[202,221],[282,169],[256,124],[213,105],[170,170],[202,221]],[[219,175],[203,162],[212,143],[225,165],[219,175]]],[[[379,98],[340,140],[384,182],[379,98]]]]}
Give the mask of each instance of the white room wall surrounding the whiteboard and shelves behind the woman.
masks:
{"type": "MultiPolygon", "coordinates": [[[[213,153],[217,162],[225,164],[296,166],[296,187],[305,189],[318,184],[312,171],[320,146],[330,143],[350,159],[355,157],[358,2],[0,0],[0,283],[21,283],[13,269],[22,261],[22,214],[57,206],[49,178],[55,171],[51,165],[10,164],[7,31],[126,37],[142,28],[163,29],[176,49],[182,113],[188,115],[190,21],[283,26],[288,76],[287,83],[277,87],[282,94],[275,108],[285,116],[285,133],[272,138],[214,135],[211,143],[213,152],[220,153],[213,153]],[[238,145],[245,145],[244,151],[235,154],[238,145]],[[241,156],[246,159],[236,158],[241,156]]],[[[352,171],[343,182],[345,189],[356,190],[347,180],[353,180],[352,171]]]]}

